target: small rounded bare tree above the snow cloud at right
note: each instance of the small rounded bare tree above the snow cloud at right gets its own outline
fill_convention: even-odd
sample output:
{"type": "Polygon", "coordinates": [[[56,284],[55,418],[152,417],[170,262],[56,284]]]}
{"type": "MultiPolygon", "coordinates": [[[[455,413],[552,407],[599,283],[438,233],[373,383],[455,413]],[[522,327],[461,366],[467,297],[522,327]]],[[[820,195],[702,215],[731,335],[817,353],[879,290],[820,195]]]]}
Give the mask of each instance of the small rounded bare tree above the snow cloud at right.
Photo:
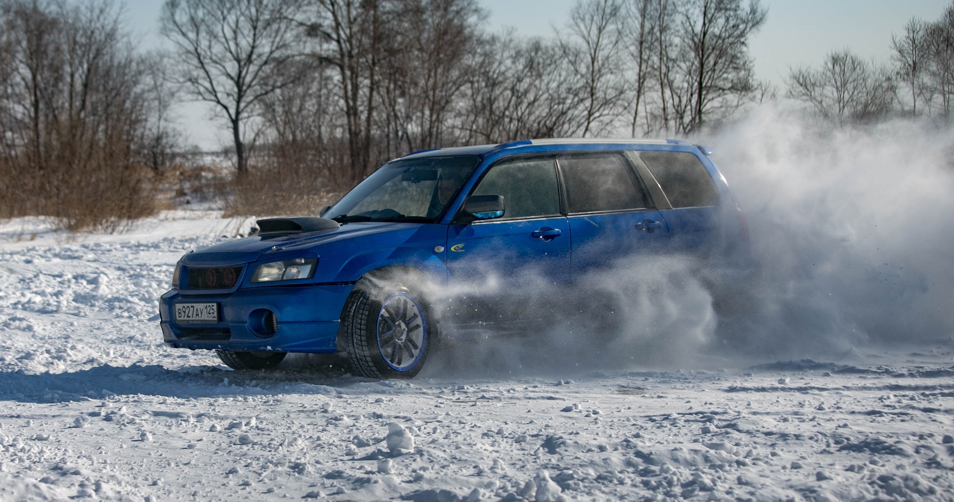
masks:
{"type": "Polygon", "coordinates": [[[793,69],[788,94],[807,101],[823,118],[844,124],[881,118],[891,111],[895,84],[891,73],[854,53],[830,52],[819,69],[793,69]]]}

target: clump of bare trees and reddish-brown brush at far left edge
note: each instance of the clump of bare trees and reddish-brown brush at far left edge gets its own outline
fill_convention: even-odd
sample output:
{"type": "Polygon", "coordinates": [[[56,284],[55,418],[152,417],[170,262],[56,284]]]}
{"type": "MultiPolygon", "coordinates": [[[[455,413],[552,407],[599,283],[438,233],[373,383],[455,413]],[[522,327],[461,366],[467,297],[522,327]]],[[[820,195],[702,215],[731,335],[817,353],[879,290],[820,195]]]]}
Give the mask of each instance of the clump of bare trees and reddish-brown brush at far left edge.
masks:
{"type": "Polygon", "coordinates": [[[0,212],[111,231],[155,209],[141,59],[119,14],[110,0],[0,3],[0,212]]]}

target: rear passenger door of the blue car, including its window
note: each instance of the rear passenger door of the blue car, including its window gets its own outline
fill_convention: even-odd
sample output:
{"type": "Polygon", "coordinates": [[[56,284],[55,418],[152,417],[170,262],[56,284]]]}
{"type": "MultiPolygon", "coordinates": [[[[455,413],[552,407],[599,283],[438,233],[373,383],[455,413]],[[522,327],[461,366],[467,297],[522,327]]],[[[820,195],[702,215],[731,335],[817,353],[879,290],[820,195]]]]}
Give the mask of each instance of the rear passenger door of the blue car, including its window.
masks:
{"type": "Polygon", "coordinates": [[[669,229],[622,153],[557,157],[572,236],[570,276],[627,266],[665,249],[669,229]]]}

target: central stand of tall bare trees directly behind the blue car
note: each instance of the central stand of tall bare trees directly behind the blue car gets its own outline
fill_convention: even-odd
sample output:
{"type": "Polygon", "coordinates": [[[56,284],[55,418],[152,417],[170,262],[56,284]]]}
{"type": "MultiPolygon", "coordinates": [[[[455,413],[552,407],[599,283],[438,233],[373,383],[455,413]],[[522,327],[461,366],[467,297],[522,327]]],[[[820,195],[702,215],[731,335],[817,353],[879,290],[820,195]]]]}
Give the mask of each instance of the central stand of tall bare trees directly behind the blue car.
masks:
{"type": "Polygon", "coordinates": [[[169,0],[161,25],[185,92],[230,129],[248,206],[269,180],[340,191],[428,148],[684,136],[757,94],[757,0],[580,0],[550,38],[486,17],[476,0],[169,0]]]}

